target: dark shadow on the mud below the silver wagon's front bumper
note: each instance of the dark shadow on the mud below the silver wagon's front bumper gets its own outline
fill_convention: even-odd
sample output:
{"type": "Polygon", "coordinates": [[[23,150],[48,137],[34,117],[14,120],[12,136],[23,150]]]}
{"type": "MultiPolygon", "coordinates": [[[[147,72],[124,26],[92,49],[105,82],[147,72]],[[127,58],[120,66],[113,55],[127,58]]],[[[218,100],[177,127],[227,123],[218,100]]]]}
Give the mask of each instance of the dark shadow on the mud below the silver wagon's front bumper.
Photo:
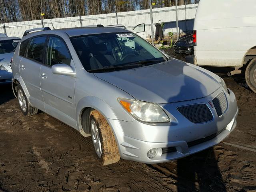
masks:
{"type": "Polygon", "coordinates": [[[226,192],[213,148],[177,160],[178,192],[226,192]]]}

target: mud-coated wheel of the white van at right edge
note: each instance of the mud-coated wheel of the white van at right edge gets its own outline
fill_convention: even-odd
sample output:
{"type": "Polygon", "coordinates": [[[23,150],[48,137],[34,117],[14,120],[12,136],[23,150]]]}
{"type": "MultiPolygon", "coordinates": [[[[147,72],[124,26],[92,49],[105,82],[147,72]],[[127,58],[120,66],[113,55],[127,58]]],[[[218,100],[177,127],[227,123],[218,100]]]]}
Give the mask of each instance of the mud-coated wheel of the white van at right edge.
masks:
{"type": "Polygon", "coordinates": [[[246,67],[245,80],[251,90],[256,93],[256,58],[251,60],[246,67]]]}

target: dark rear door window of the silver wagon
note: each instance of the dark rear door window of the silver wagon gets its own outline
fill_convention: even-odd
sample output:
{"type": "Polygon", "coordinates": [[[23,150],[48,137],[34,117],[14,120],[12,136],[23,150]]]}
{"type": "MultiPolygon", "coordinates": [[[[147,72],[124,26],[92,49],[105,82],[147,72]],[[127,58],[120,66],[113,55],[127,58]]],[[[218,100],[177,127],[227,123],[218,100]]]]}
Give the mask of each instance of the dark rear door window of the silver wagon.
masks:
{"type": "Polygon", "coordinates": [[[42,63],[45,40],[46,36],[32,38],[28,46],[27,57],[42,63]]]}

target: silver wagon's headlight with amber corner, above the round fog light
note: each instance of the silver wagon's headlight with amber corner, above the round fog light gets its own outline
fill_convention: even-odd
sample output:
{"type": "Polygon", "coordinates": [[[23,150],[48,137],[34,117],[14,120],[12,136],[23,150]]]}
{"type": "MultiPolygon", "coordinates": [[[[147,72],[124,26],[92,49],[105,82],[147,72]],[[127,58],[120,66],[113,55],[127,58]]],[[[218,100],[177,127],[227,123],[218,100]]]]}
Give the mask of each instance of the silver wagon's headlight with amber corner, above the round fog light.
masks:
{"type": "Polygon", "coordinates": [[[144,122],[169,122],[170,119],[158,104],[118,98],[123,108],[134,118],[144,122]]]}

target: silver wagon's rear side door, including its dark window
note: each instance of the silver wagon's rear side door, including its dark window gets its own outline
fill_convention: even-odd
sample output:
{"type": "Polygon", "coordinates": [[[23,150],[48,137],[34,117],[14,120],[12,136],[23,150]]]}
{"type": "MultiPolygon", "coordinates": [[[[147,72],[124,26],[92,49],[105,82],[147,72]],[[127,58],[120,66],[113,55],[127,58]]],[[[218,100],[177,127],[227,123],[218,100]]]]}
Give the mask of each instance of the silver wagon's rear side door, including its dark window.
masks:
{"type": "Polygon", "coordinates": [[[44,110],[39,74],[44,59],[45,42],[46,36],[31,38],[27,52],[20,61],[20,76],[26,85],[28,100],[40,110],[44,110]]]}

